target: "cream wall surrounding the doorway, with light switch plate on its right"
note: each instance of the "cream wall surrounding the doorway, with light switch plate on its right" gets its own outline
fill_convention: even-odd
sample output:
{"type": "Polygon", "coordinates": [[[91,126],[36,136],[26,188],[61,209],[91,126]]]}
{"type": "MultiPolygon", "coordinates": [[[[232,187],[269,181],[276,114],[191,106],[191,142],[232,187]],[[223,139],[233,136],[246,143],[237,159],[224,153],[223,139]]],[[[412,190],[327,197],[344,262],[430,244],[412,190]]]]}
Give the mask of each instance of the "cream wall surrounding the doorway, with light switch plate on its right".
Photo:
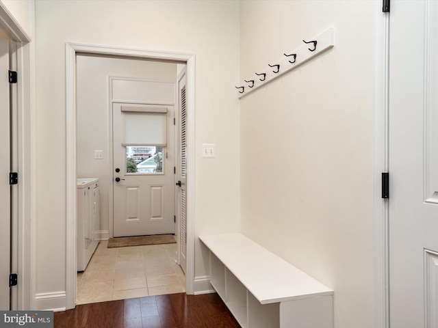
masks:
{"type": "Polygon", "coordinates": [[[37,294],[66,290],[66,42],[196,55],[195,232],[238,230],[239,10],[237,1],[36,1],[37,294]],[[216,143],[216,159],[201,158],[203,142],[216,143]]]}

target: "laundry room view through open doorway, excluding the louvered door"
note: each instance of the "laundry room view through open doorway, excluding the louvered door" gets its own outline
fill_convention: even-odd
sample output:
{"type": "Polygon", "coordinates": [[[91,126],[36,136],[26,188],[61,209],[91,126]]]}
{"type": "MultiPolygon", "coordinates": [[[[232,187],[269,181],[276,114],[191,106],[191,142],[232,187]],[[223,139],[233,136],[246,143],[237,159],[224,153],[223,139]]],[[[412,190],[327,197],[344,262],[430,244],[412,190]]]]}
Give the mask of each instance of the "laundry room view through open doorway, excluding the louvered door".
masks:
{"type": "Polygon", "coordinates": [[[76,65],[77,303],[185,292],[175,237],[105,247],[108,237],[178,235],[175,90],[185,65],[82,54],[76,65]]]}

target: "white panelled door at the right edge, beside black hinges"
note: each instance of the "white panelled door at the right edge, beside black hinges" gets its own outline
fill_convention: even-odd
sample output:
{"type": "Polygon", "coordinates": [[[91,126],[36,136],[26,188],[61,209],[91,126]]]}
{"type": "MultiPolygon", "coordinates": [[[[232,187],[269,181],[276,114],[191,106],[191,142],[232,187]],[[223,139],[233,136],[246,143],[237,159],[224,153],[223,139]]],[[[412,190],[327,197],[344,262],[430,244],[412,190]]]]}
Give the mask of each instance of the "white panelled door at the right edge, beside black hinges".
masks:
{"type": "Polygon", "coordinates": [[[438,327],[438,1],[391,1],[389,303],[438,327]]]}

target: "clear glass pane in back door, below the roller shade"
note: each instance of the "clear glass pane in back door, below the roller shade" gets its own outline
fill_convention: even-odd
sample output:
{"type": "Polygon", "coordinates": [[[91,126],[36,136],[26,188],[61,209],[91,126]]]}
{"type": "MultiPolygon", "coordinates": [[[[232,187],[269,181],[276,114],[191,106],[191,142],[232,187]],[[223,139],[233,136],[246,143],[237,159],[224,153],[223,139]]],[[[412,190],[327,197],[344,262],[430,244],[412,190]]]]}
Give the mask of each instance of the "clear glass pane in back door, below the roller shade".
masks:
{"type": "Polygon", "coordinates": [[[127,146],[127,174],[163,174],[162,146],[127,146]]]}

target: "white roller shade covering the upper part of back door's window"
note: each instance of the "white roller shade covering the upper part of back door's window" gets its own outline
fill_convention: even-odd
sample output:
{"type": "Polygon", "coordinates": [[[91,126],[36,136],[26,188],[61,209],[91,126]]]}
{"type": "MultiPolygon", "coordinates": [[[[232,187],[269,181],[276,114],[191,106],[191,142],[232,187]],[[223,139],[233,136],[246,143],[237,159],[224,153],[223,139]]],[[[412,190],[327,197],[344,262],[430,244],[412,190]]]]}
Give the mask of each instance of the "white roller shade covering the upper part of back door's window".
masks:
{"type": "MultiPolygon", "coordinates": [[[[129,109],[128,109],[129,110],[129,109]]],[[[151,107],[141,111],[128,111],[122,107],[125,122],[125,142],[123,146],[166,146],[166,112],[151,111],[151,107]]]]}

